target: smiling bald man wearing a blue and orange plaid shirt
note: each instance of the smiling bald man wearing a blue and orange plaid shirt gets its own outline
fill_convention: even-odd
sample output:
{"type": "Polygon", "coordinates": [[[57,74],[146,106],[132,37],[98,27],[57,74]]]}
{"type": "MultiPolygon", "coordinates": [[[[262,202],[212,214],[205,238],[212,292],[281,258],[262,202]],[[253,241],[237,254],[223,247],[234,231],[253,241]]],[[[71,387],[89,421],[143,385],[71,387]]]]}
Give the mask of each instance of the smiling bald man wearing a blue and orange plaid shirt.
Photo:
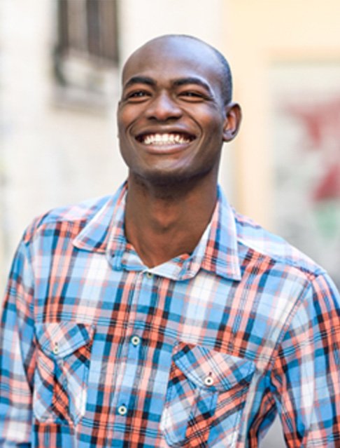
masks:
{"type": "Polygon", "coordinates": [[[229,67],[190,36],[129,58],[127,184],[27,229],[1,332],[1,446],[339,447],[339,294],[229,207],[229,67]]]}

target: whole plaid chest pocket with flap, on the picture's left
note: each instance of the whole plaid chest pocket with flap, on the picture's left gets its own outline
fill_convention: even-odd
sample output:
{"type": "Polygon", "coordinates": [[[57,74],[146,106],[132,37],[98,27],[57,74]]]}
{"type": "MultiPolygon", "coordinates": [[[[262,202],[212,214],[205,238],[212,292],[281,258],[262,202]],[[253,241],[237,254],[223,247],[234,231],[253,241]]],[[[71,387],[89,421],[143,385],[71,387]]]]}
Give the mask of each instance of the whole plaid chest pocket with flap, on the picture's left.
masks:
{"type": "Polygon", "coordinates": [[[94,327],[81,323],[36,325],[34,415],[46,423],[76,425],[85,414],[94,327]]]}

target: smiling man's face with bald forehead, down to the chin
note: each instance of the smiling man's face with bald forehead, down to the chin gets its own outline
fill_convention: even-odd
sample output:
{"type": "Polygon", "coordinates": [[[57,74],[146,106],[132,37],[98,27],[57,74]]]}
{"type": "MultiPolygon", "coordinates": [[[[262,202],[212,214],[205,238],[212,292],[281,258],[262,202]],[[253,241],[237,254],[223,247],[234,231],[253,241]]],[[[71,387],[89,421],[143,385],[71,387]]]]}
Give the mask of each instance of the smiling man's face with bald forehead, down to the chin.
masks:
{"type": "Polygon", "coordinates": [[[232,140],[235,123],[210,48],[157,39],[130,57],[122,82],[118,130],[130,175],[158,184],[217,175],[222,142],[232,140]]]}

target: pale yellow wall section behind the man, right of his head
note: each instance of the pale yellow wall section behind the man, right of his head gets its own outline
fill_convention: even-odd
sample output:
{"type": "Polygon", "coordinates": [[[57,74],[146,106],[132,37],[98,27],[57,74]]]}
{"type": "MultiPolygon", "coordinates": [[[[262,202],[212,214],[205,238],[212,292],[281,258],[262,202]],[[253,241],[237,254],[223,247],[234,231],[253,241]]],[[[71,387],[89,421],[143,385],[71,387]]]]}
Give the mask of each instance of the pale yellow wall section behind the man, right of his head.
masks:
{"type": "Polygon", "coordinates": [[[269,67],[278,61],[340,60],[340,1],[228,0],[223,50],[243,107],[236,140],[236,205],[272,227],[269,67]]]}

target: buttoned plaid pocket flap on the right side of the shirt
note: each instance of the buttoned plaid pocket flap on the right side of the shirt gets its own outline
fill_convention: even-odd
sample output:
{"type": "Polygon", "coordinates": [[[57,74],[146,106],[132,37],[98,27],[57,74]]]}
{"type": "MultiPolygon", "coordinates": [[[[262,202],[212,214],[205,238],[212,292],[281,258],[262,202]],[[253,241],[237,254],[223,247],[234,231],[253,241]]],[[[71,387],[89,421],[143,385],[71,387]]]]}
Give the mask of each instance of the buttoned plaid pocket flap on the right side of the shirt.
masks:
{"type": "Polygon", "coordinates": [[[183,342],[178,344],[173,361],[197,386],[217,391],[249,383],[255,372],[250,360],[183,342]]]}

